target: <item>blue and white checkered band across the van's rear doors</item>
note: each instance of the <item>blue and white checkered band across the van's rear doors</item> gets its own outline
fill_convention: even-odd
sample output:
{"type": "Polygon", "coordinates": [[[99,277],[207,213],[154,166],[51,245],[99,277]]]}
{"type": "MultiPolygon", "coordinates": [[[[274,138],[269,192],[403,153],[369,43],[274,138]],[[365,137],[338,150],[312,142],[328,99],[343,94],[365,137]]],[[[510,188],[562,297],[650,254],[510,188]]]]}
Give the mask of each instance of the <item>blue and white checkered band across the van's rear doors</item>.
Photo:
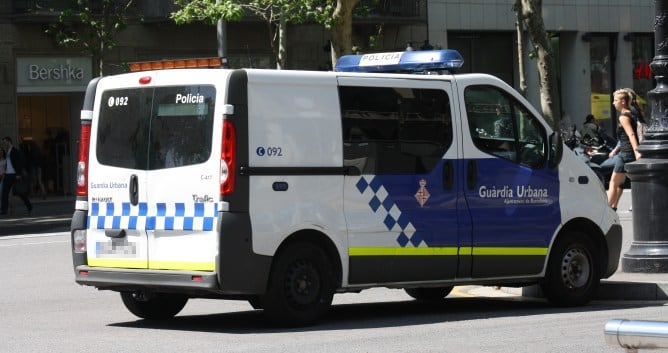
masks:
{"type": "Polygon", "coordinates": [[[218,204],[94,202],[88,214],[89,229],[213,230],[218,204]]]}

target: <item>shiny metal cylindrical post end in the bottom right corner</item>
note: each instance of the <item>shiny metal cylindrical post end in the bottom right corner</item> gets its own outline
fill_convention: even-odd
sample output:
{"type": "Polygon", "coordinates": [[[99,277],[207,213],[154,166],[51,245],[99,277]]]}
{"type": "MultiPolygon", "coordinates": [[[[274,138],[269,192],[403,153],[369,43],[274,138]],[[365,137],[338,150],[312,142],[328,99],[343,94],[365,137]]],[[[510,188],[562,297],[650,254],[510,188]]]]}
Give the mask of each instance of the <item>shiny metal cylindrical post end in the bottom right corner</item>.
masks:
{"type": "Polygon", "coordinates": [[[668,322],[610,320],[605,324],[605,342],[628,352],[668,348],[668,322]]]}

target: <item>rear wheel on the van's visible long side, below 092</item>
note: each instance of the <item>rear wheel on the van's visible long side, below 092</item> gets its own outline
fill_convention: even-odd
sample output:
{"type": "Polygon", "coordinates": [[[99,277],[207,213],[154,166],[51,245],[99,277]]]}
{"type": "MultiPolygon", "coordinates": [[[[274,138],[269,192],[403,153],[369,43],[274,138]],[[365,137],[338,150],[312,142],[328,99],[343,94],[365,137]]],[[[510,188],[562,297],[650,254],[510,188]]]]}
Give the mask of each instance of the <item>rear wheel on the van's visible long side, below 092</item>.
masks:
{"type": "Polygon", "coordinates": [[[310,243],[294,244],[277,255],[261,305],[275,324],[310,325],[329,310],[334,283],[332,266],[322,249],[310,243]]]}

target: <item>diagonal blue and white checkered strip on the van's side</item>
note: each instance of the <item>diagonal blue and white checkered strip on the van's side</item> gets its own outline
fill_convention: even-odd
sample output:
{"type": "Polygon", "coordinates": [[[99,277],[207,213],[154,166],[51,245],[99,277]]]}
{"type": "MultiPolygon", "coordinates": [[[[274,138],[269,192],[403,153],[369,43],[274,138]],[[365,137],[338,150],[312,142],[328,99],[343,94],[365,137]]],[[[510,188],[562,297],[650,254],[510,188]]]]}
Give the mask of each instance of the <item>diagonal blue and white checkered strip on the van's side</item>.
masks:
{"type": "MultiPolygon", "coordinates": [[[[356,184],[357,190],[369,200],[369,207],[374,213],[383,217],[383,224],[389,231],[398,232],[397,243],[402,247],[413,245],[419,247],[423,241],[417,234],[408,217],[402,214],[399,206],[392,200],[392,196],[376,176],[362,176],[356,184]]],[[[426,244],[422,244],[425,246],[426,244]]]]}

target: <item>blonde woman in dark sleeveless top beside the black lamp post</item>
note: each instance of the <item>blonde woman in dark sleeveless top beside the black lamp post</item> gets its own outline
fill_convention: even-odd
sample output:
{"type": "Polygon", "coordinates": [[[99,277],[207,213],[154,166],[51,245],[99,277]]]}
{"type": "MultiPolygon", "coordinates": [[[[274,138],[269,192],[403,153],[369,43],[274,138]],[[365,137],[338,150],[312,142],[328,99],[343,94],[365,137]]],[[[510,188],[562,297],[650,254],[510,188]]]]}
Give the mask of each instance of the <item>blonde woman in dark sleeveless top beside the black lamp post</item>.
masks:
{"type": "Polygon", "coordinates": [[[619,112],[619,124],[617,125],[617,137],[619,138],[619,156],[615,161],[615,168],[610,177],[608,186],[608,205],[617,210],[617,204],[622,197],[622,184],[626,179],[624,165],[640,159],[638,152],[638,137],[636,131],[638,122],[633,118],[631,112],[631,97],[628,91],[620,89],[612,94],[612,104],[619,112]]]}

